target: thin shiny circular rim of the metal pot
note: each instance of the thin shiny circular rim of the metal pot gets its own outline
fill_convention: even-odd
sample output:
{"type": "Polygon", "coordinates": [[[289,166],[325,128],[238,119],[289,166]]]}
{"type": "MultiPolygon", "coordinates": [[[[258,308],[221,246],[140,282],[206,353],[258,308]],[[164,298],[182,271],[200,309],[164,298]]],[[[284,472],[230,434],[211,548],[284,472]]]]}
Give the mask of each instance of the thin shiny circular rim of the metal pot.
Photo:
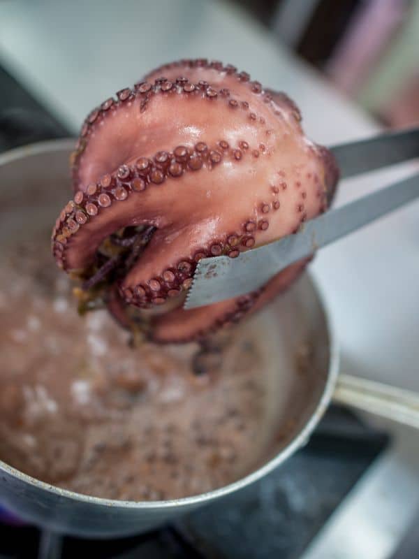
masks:
{"type": "MultiPolygon", "coordinates": [[[[32,155],[41,154],[45,152],[55,152],[61,150],[72,150],[74,147],[75,140],[73,138],[60,138],[56,140],[46,140],[43,142],[37,142],[29,145],[24,145],[22,147],[16,147],[13,150],[4,152],[0,154],[0,166],[11,163],[18,159],[24,157],[30,157],[32,155]]],[[[325,316],[326,331],[328,333],[329,340],[329,368],[327,373],[327,379],[323,389],[321,398],[318,400],[316,409],[313,414],[311,414],[310,419],[300,430],[300,433],[282,449],[277,456],[274,456],[271,460],[268,460],[263,466],[254,470],[247,476],[234,481],[232,484],[228,484],[221,488],[208,491],[207,493],[199,493],[198,495],[192,495],[190,497],[184,497],[180,499],[172,500],[161,500],[161,501],[124,501],[115,499],[105,499],[100,497],[93,497],[91,495],[84,495],[83,493],[76,493],[75,491],[70,491],[68,489],[59,488],[52,484],[47,484],[45,481],[41,481],[34,477],[24,474],[17,470],[15,467],[9,466],[0,460],[0,472],[6,472],[11,477],[17,477],[20,481],[35,486],[38,489],[43,489],[49,493],[54,493],[57,497],[67,498],[69,500],[78,501],[82,503],[96,504],[100,507],[122,507],[127,509],[170,509],[172,507],[190,507],[194,504],[203,504],[205,502],[211,502],[216,498],[221,498],[230,493],[238,491],[244,487],[247,487],[253,482],[258,481],[258,479],[264,477],[266,474],[272,472],[275,467],[278,467],[285,462],[290,456],[295,453],[300,447],[309,440],[309,436],[316,428],[318,422],[321,420],[325,410],[330,404],[332,398],[332,393],[335,389],[335,384],[337,382],[337,375],[339,372],[339,344],[337,341],[336,328],[334,321],[332,319],[332,314],[330,313],[328,303],[326,302],[323,290],[318,285],[316,279],[314,279],[311,273],[308,273],[309,279],[313,286],[313,289],[321,303],[321,307],[325,316]]]]}

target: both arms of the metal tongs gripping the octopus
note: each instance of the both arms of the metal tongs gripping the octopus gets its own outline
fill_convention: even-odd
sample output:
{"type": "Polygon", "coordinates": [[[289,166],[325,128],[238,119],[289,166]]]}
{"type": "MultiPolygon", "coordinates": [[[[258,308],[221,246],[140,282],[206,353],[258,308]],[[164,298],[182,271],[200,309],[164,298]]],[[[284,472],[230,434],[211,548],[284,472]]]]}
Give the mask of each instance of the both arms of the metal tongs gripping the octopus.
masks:
{"type": "MultiPolygon", "coordinates": [[[[419,128],[330,147],[341,179],[419,157],[419,128]]],[[[311,219],[302,231],[243,252],[199,261],[185,309],[249,293],[293,262],[419,197],[419,173],[311,219]]]]}

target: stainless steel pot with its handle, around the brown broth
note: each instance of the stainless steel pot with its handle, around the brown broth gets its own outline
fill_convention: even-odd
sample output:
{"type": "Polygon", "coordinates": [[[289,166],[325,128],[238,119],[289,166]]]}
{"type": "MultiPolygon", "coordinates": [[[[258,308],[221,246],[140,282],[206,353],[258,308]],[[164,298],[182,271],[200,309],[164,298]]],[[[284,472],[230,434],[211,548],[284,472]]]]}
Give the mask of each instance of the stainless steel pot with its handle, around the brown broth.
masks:
{"type": "MultiPolygon", "coordinates": [[[[0,155],[0,240],[8,238],[11,231],[15,237],[23,237],[40,223],[54,222],[71,192],[68,156],[72,147],[73,140],[54,140],[0,155]]],[[[126,502],[65,491],[0,461],[1,504],[20,518],[50,530],[89,537],[130,535],[239,491],[271,472],[307,442],[332,398],[419,426],[417,395],[347,375],[338,379],[334,329],[323,298],[308,275],[266,312],[270,329],[274,328],[282,347],[278,374],[288,389],[274,402],[280,442],[270,449],[269,456],[261,458],[258,469],[210,493],[179,500],[126,502]],[[299,351],[307,342],[310,367],[301,375],[299,351]]]]}

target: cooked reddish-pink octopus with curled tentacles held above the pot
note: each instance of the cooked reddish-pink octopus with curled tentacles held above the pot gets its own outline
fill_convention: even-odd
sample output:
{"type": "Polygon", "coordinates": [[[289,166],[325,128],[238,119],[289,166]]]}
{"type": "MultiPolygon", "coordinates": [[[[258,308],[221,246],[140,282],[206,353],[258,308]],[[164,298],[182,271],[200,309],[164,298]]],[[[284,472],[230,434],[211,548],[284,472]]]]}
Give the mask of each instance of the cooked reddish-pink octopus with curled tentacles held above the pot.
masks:
{"type": "Polygon", "coordinates": [[[200,259],[237,258],[327,210],[339,172],[301,120],[286,94],[219,61],[173,62],[121,89],[82,125],[52,232],[58,266],[154,342],[202,341],[256,312],[309,259],[244,296],[183,303],[200,259]]]}

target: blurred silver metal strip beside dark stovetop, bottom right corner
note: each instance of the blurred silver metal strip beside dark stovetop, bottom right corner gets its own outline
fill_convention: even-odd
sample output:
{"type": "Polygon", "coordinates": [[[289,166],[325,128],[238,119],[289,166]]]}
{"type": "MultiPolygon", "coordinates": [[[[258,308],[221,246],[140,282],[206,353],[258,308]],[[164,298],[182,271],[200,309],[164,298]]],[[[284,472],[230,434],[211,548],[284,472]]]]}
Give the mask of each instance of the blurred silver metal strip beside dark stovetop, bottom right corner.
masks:
{"type": "MultiPolygon", "coordinates": [[[[380,421],[393,444],[366,472],[301,559],[392,559],[419,511],[418,431],[380,421]]],[[[417,530],[417,526],[416,526],[417,530]]]]}

